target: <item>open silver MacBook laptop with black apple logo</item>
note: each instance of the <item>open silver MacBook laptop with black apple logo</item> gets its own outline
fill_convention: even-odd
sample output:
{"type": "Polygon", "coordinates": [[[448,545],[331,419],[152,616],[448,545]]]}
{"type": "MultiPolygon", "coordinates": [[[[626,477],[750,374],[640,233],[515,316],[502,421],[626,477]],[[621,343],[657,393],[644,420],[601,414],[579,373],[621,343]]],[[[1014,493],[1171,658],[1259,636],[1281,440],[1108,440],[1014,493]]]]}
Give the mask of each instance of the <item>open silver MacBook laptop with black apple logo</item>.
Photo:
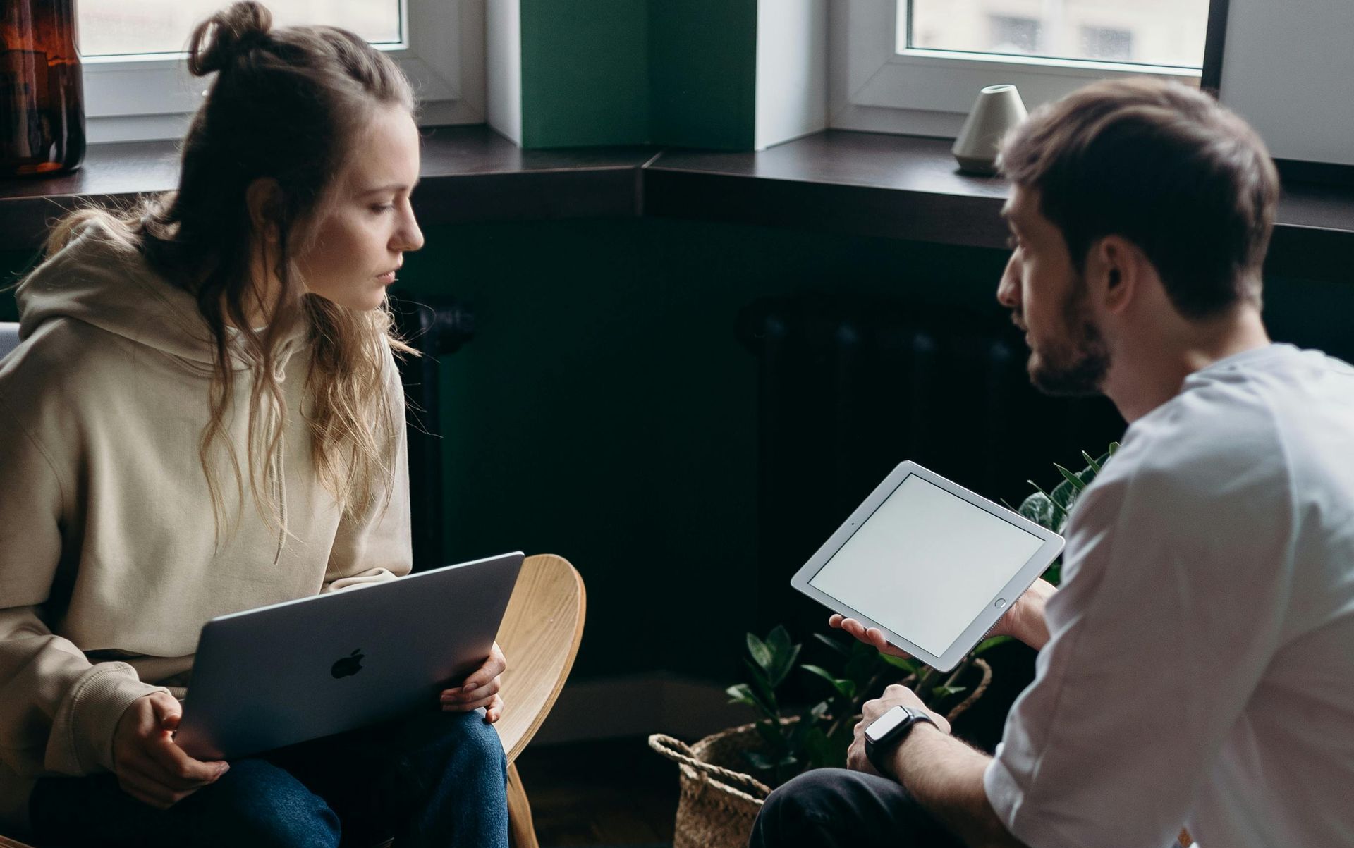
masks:
{"type": "Polygon", "coordinates": [[[175,741],[199,760],[436,710],[493,648],[521,552],[213,618],[175,741]]]}

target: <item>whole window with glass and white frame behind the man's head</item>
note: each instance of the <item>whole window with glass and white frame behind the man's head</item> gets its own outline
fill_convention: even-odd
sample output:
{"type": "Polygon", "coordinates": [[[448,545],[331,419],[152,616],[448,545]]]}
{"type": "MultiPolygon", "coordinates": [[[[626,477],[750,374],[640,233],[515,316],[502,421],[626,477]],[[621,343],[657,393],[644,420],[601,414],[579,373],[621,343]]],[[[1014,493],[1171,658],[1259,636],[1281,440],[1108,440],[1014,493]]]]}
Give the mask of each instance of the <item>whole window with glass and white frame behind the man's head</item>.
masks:
{"type": "Polygon", "coordinates": [[[978,91],[1011,83],[1030,108],[1095,78],[1197,84],[1208,0],[850,0],[833,126],[956,135],[978,91]]]}

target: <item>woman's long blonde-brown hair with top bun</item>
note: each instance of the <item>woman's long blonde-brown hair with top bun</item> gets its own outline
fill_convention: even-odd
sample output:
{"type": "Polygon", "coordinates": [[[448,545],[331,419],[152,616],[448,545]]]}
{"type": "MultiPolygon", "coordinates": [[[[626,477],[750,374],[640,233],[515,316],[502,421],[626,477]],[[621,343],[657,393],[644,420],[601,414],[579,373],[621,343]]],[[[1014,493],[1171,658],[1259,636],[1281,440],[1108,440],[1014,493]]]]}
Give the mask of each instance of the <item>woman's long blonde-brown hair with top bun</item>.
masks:
{"type": "Polygon", "coordinates": [[[309,408],[302,414],[310,425],[311,458],[322,486],[352,517],[371,504],[378,488],[389,500],[394,469],[383,463],[385,446],[403,422],[391,408],[385,361],[387,350],[412,349],[395,335],[386,304],[367,312],[306,293],[294,256],[314,243],[336,177],[378,107],[394,104],[413,114],[413,92],[399,68],[360,37],[320,26],[274,30],[272,15],[252,0],[234,3],[194,30],[188,70],[217,77],[184,138],[177,191],[121,214],[74,212],[53,229],[47,256],[69,241],[77,225],[103,218],[138,245],[153,269],[195,296],[215,345],[199,460],[218,530],[227,515],[210,463],[218,440],[244,499],[238,456],[225,438],[233,360],[242,360],[255,377],[249,490],[264,519],[286,529],[283,504],[261,484],[260,471],[282,442],[278,348],[303,326],[310,371],[309,408]],[[268,214],[276,229],[275,256],[255,231],[245,200],[259,179],[272,179],[279,188],[268,214]],[[280,281],[268,303],[252,275],[256,258],[280,281]],[[267,326],[249,331],[250,316],[260,312],[267,326]],[[232,333],[229,325],[242,330],[232,333]]]}

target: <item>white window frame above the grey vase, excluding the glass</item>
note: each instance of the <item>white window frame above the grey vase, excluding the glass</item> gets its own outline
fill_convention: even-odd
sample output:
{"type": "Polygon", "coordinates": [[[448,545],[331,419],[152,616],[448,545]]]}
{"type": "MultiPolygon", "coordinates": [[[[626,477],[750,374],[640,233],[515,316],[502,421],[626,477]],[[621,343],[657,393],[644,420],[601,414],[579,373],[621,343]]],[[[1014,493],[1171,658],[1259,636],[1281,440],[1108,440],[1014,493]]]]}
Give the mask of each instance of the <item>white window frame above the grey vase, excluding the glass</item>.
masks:
{"type": "Polygon", "coordinates": [[[1198,83],[1197,68],[1089,62],[944,50],[898,53],[898,0],[834,4],[831,126],[953,138],[978,91],[995,83],[1020,88],[1034,108],[1090,83],[1156,76],[1198,83]]]}

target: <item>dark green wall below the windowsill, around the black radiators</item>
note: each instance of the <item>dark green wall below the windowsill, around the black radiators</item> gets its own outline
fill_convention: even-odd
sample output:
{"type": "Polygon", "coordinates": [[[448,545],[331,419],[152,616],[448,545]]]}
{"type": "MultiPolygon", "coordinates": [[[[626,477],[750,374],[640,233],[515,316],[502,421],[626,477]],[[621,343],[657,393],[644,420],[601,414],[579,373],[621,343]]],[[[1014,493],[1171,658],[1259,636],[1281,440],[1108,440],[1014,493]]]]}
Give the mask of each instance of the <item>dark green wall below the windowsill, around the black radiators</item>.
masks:
{"type": "MultiPolygon", "coordinates": [[[[741,306],[830,288],[997,308],[1005,258],[665,219],[427,235],[403,281],[466,299],[477,321],[474,341],[441,361],[447,557],[569,557],[589,590],[578,679],[738,674],[756,590],[756,372],[734,337],[741,306]]],[[[0,254],[0,269],[27,260],[0,254]]],[[[1347,283],[1269,284],[1278,339],[1354,358],[1350,315],[1347,283]]]]}

